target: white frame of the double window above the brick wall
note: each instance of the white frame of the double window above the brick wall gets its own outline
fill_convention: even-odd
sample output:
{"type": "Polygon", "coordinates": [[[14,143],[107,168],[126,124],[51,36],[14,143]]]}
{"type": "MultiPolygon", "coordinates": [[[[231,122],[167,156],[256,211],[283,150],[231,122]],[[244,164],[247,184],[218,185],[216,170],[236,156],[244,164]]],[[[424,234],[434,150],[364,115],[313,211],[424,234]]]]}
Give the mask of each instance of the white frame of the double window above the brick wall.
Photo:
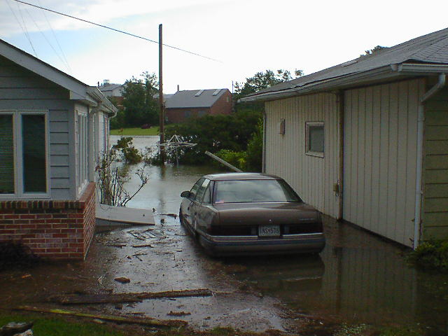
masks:
{"type": "Polygon", "coordinates": [[[13,194],[0,194],[0,199],[36,199],[50,198],[50,134],[48,110],[1,110],[0,114],[13,116],[13,147],[14,147],[14,190],[13,194]],[[23,190],[23,141],[22,116],[43,115],[45,118],[45,193],[25,193],[23,190]],[[20,176],[22,176],[20,178],[20,176]]]}

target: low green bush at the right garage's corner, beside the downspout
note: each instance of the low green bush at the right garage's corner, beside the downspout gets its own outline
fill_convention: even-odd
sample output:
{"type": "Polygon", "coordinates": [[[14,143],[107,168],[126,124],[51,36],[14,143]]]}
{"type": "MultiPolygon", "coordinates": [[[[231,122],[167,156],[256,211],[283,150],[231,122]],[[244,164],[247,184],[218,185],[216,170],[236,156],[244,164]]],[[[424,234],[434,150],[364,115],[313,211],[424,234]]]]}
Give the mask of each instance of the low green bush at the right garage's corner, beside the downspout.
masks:
{"type": "Polygon", "coordinates": [[[437,269],[448,272],[448,239],[424,241],[407,260],[423,269],[437,269]]]}

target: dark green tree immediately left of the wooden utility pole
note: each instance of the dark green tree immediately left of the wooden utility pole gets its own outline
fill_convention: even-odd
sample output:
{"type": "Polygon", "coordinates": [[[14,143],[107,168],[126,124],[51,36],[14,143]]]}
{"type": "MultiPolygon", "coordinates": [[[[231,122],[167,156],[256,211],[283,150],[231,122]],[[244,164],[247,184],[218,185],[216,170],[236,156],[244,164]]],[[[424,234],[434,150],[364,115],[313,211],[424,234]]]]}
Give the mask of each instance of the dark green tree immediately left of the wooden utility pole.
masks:
{"type": "Polygon", "coordinates": [[[144,124],[157,124],[159,120],[158,78],[148,71],[139,78],[132,76],[125,82],[123,92],[124,123],[123,126],[139,127],[144,124]]]}

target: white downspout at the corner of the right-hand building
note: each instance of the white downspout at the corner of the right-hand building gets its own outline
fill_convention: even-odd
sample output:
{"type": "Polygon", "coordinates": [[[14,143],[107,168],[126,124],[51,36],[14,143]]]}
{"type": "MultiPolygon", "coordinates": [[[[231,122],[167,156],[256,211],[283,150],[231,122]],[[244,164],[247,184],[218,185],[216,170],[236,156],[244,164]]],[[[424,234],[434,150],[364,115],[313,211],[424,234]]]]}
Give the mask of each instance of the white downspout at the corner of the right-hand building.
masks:
{"type": "Polygon", "coordinates": [[[423,140],[424,140],[424,122],[425,122],[425,106],[428,99],[439,92],[445,86],[445,74],[439,74],[439,81],[430,88],[428,92],[423,94],[420,100],[418,120],[417,120],[417,158],[416,158],[416,181],[415,181],[415,214],[414,214],[414,250],[419,246],[421,235],[421,203],[423,200],[423,140]]]}

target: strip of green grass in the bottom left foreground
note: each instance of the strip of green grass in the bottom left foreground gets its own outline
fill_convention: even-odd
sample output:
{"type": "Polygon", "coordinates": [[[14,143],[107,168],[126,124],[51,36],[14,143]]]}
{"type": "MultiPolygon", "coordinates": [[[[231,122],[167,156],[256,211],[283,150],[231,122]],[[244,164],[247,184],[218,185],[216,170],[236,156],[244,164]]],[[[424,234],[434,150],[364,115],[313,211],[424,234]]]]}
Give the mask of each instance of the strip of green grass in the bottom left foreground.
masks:
{"type": "Polygon", "coordinates": [[[123,336],[122,332],[111,330],[105,325],[83,321],[72,322],[64,318],[48,317],[41,314],[0,314],[0,327],[9,322],[34,321],[34,335],[45,336],[123,336]]]}

